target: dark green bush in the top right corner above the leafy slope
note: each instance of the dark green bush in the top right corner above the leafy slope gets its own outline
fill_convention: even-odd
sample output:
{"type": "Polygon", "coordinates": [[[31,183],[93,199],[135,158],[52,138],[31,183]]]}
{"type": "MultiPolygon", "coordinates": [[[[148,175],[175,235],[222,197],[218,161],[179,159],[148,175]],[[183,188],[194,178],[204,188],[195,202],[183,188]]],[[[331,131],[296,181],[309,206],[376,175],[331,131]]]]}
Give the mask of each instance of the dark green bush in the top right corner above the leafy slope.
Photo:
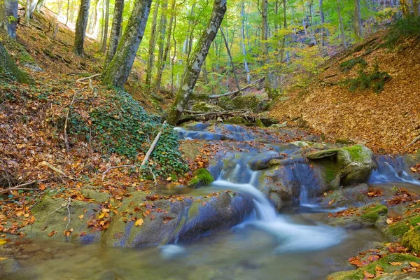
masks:
{"type": "Polygon", "coordinates": [[[385,37],[384,46],[394,48],[405,38],[414,38],[420,41],[420,17],[407,17],[396,20],[385,37]]]}

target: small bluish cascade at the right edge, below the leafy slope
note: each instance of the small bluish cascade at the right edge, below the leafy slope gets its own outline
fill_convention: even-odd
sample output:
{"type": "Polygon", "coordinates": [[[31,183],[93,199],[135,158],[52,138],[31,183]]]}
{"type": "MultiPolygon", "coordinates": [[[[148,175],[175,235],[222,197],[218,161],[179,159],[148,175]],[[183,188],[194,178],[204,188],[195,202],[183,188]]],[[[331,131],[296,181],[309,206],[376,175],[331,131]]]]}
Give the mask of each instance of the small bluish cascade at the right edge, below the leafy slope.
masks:
{"type": "Polygon", "coordinates": [[[420,186],[420,181],[412,178],[407,173],[408,167],[405,164],[404,157],[391,158],[388,155],[380,155],[375,159],[377,169],[370,176],[370,183],[410,183],[420,186]]]}

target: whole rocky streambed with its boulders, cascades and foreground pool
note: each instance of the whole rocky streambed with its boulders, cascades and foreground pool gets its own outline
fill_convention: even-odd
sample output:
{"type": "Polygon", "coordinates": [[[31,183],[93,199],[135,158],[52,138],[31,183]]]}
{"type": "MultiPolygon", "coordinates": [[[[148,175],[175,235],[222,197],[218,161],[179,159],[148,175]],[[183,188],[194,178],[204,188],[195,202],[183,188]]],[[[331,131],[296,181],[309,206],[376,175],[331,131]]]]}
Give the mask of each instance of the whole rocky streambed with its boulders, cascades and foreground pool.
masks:
{"type": "Polygon", "coordinates": [[[416,275],[420,186],[409,167],[419,159],[281,127],[186,123],[176,130],[183,154],[208,161],[214,183],[133,183],[120,196],[80,186],[84,199],[71,202],[48,193],[22,230],[27,237],[0,246],[8,258],[2,279],[416,275]],[[350,264],[358,251],[365,253],[350,264]],[[404,270],[410,273],[393,274],[404,270]]]}

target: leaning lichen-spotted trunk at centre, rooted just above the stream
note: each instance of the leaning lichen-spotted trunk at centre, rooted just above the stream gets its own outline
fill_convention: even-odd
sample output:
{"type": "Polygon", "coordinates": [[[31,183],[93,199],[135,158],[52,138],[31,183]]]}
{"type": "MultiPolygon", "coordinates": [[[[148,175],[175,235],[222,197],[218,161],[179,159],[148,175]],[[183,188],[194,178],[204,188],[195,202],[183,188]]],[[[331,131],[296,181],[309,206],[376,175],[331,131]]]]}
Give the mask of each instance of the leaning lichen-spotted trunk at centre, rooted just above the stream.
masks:
{"type": "Polygon", "coordinates": [[[209,24],[207,25],[207,28],[204,29],[200,41],[195,48],[195,52],[188,62],[186,73],[183,76],[183,81],[181,83],[182,86],[176,93],[174,104],[172,104],[171,109],[169,109],[167,121],[170,125],[176,125],[179,118],[181,118],[184,108],[188,104],[190,94],[193,92],[195,83],[197,83],[197,78],[200,75],[202,64],[209,53],[211,42],[213,42],[217,31],[221,26],[225,12],[226,0],[215,0],[209,24]]]}

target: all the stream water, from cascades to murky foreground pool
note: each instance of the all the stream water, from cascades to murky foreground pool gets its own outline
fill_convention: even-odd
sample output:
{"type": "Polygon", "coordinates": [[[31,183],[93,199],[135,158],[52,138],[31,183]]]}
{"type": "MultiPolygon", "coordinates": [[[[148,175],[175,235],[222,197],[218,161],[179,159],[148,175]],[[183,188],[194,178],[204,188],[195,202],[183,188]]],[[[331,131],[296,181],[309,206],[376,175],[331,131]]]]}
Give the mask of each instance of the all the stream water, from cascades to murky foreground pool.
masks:
{"type": "MultiPolygon", "coordinates": [[[[200,137],[220,138],[208,133],[200,137]]],[[[320,215],[325,218],[325,212],[340,209],[314,203],[318,183],[299,160],[284,176],[299,184],[300,207],[276,213],[257,188],[260,173],[249,167],[253,158],[258,155],[233,156],[224,167],[214,169],[218,179],[212,186],[190,193],[235,190],[251,195],[254,214],[231,230],[187,244],[137,249],[31,240],[17,258],[23,268],[8,279],[325,279],[345,268],[347,259],[365,249],[367,241],[384,241],[374,229],[345,230],[321,223],[320,215]]],[[[395,165],[382,160],[370,181],[418,184],[395,165]]]]}

